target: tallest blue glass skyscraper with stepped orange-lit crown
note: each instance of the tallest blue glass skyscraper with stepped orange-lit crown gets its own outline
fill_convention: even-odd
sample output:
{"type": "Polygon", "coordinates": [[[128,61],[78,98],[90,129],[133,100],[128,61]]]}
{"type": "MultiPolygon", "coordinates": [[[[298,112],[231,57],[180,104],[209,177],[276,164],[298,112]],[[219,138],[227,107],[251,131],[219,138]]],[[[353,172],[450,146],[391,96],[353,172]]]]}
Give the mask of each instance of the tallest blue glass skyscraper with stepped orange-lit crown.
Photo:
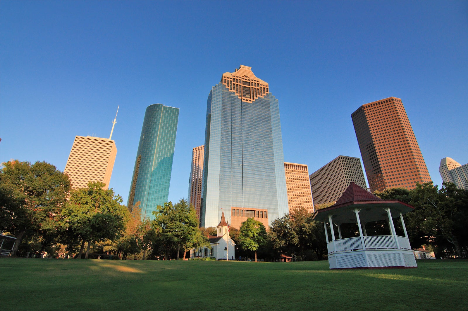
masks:
{"type": "Polygon", "coordinates": [[[202,193],[205,227],[216,226],[223,210],[265,209],[270,224],[288,212],[278,99],[250,67],[224,73],[208,96],[202,193]]]}

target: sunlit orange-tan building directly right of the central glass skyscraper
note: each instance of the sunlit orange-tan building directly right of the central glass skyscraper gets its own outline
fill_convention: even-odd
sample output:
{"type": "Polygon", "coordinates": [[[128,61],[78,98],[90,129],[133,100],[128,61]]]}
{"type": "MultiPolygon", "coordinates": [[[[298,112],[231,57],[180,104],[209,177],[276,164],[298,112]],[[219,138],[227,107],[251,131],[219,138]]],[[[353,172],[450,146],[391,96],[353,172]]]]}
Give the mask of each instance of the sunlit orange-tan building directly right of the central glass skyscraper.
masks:
{"type": "Polygon", "coordinates": [[[300,207],[314,212],[307,164],[285,162],[285,176],[289,212],[300,207]]]}

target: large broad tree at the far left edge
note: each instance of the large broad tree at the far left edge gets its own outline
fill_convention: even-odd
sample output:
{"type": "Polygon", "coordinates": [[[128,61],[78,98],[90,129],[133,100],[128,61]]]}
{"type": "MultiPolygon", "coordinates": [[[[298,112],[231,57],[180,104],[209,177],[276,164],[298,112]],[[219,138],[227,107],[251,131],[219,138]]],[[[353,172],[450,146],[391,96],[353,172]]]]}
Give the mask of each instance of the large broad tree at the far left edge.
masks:
{"type": "Polygon", "coordinates": [[[60,210],[66,202],[70,180],[46,162],[18,160],[3,163],[0,171],[0,230],[16,237],[12,255],[21,240],[36,234],[42,247],[57,238],[60,210]]]}

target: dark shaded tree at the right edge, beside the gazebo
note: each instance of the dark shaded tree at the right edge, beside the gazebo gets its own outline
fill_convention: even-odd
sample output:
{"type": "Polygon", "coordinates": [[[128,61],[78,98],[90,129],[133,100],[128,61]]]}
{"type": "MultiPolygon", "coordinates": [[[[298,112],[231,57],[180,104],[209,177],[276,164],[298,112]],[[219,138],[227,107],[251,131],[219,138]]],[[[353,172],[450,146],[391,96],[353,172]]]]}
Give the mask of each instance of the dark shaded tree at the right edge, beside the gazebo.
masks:
{"type": "Polygon", "coordinates": [[[446,240],[461,257],[461,243],[466,243],[468,236],[468,191],[452,183],[442,183],[438,189],[429,182],[417,184],[410,196],[415,207],[409,214],[410,223],[418,224],[430,236],[446,240]]]}

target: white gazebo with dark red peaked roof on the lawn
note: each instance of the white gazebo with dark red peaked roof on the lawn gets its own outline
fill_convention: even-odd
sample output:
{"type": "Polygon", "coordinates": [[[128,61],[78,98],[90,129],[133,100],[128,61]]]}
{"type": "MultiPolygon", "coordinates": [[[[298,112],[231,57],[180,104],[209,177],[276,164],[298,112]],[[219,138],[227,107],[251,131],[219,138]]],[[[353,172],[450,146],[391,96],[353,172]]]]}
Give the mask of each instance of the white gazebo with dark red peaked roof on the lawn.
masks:
{"type": "Polygon", "coordinates": [[[330,269],[416,268],[403,220],[403,214],[413,209],[408,203],[383,200],[351,183],[336,204],[314,213],[314,220],[323,221],[325,227],[330,269]],[[396,234],[395,218],[401,219],[404,236],[396,234]],[[388,222],[389,234],[367,235],[366,224],[379,220],[388,222]],[[359,236],[343,239],[343,224],[357,224],[359,236]]]}

